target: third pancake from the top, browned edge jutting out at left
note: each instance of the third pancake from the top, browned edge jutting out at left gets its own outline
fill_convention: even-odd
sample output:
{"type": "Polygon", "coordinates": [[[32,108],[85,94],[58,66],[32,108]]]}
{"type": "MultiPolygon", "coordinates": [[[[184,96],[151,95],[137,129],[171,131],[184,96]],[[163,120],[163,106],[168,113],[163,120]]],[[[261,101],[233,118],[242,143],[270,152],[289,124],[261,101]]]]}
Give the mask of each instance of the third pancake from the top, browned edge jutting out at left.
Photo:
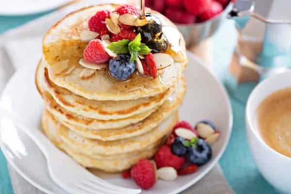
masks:
{"type": "Polygon", "coordinates": [[[89,129],[116,129],[128,126],[133,123],[137,123],[139,121],[144,120],[151,113],[155,112],[159,107],[154,107],[152,110],[149,110],[145,113],[135,114],[128,118],[116,119],[116,120],[100,120],[93,119],[82,116],[77,113],[70,112],[60,106],[55,99],[45,90],[44,87],[44,68],[40,68],[40,66],[36,70],[35,74],[35,83],[38,92],[44,100],[45,106],[47,110],[60,118],[61,120],[70,123],[72,125],[86,127],[89,129]]]}

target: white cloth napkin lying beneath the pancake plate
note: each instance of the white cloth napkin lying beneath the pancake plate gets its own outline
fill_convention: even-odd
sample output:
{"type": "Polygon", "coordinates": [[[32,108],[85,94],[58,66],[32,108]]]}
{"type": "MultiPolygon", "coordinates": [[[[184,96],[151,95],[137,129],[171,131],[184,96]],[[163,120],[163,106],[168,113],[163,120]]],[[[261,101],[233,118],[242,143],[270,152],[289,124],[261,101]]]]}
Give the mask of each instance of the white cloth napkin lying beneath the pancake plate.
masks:
{"type": "MultiPolygon", "coordinates": [[[[131,2],[134,0],[131,0],[131,2]]],[[[23,64],[42,56],[42,38],[49,28],[68,13],[98,3],[126,0],[88,0],[59,9],[0,36],[0,93],[12,74],[23,64]]],[[[128,2],[128,1],[127,1],[128,2]]],[[[43,194],[8,164],[15,194],[43,194]]],[[[181,194],[234,194],[217,164],[204,178],[181,194]]]]}

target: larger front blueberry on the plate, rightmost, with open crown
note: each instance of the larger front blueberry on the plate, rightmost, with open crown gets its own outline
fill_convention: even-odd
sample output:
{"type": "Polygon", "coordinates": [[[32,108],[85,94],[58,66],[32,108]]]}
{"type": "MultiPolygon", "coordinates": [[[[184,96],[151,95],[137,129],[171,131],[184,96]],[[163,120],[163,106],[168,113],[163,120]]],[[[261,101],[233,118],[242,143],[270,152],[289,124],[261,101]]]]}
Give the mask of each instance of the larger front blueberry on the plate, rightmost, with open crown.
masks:
{"type": "Polygon", "coordinates": [[[195,146],[195,148],[192,146],[187,148],[186,157],[191,163],[203,165],[211,158],[210,144],[203,139],[199,139],[195,146]]]}

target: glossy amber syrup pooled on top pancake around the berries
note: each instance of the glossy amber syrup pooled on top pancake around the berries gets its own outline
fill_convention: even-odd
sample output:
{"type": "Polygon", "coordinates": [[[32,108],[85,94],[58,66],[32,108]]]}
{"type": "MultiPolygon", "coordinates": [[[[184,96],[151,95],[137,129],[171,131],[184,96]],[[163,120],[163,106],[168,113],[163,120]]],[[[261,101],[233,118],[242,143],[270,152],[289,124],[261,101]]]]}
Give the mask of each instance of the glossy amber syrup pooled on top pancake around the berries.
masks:
{"type": "MultiPolygon", "coordinates": [[[[60,41],[55,43],[49,43],[44,45],[43,52],[46,56],[46,62],[48,64],[55,64],[62,60],[69,60],[69,68],[75,68],[72,71],[80,72],[84,68],[79,64],[80,59],[83,55],[83,50],[86,47],[86,44],[81,40],[67,40],[67,41],[60,41]]],[[[159,70],[156,79],[148,78],[145,76],[140,76],[137,72],[131,76],[130,79],[126,81],[116,80],[110,76],[108,73],[108,68],[105,70],[97,70],[95,77],[98,78],[95,82],[97,84],[97,90],[103,91],[106,93],[111,94],[121,94],[121,93],[128,93],[134,90],[149,90],[155,89],[163,85],[161,80],[161,75],[163,74],[164,70],[159,70]],[[148,84],[149,81],[151,84],[148,84]]],[[[51,74],[51,72],[50,72],[51,74]]],[[[58,74],[58,77],[66,77],[68,74],[58,74]]],[[[80,79],[81,81],[81,79],[80,79]]]]}

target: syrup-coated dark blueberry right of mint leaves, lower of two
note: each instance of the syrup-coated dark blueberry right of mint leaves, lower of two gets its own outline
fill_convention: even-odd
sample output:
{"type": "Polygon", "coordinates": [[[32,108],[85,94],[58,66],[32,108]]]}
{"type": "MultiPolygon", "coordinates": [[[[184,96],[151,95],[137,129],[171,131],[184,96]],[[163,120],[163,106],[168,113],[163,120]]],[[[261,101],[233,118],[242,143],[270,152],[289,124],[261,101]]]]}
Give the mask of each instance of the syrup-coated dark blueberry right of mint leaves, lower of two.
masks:
{"type": "Polygon", "coordinates": [[[169,48],[169,43],[166,36],[164,34],[161,34],[161,37],[156,37],[148,41],[148,43],[146,43],[146,46],[152,49],[153,53],[157,53],[166,51],[169,48]]]}

